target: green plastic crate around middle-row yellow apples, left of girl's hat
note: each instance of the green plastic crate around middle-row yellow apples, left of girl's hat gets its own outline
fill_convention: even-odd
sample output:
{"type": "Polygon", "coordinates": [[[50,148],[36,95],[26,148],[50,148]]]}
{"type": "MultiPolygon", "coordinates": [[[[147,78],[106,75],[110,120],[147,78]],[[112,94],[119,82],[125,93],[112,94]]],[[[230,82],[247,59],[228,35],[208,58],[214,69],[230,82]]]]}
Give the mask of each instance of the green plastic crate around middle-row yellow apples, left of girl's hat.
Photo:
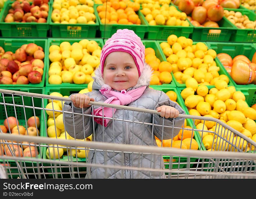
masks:
{"type": "MultiPolygon", "coordinates": [[[[49,38],[48,39],[48,46],[50,47],[51,45],[60,45],[63,41],[68,41],[70,42],[70,44],[72,45],[74,42],[79,42],[81,41],[81,39],[74,39],[74,38],[70,38],[70,39],[62,39],[62,38],[49,38]]],[[[89,41],[90,40],[94,40],[98,43],[98,45],[102,48],[103,45],[104,45],[104,41],[103,39],[99,39],[99,38],[93,38],[93,39],[88,39],[89,41]]],[[[48,55],[47,55],[47,59],[48,59],[48,55]]],[[[79,88],[87,88],[87,85],[88,84],[70,84],[70,83],[62,83],[62,84],[49,84],[49,74],[48,74],[48,71],[49,71],[49,66],[51,64],[51,61],[48,59],[47,60],[47,66],[46,66],[46,80],[45,80],[45,86],[76,86],[76,87],[79,87],[79,88]]]]}

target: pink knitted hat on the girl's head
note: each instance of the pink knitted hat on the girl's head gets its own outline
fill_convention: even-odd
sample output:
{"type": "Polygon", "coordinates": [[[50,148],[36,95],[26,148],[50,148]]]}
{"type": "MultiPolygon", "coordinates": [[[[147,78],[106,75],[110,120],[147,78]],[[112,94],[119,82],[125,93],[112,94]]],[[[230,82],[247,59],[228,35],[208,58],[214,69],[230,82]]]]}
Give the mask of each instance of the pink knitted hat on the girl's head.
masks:
{"type": "Polygon", "coordinates": [[[100,55],[100,66],[102,75],[106,57],[110,53],[115,51],[129,53],[133,57],[140,77],[141,71],[144,67],[145,59],[145,46],[141,42],[141,38],[138,37],[133,30],[117,30],[117,32],[106,41],[105,45],[102,48],[100,55]]]}

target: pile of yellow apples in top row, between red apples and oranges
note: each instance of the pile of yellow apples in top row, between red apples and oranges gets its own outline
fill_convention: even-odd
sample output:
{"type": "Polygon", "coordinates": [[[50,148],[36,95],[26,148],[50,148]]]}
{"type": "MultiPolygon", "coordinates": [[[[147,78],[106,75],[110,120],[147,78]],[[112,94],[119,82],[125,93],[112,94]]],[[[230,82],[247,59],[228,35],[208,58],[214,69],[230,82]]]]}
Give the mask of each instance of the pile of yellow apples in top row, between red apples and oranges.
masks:
{"type": "Polygon", "coordinates": [[[54,0],[52,5],[54,10],[51,14],[51,20],[54,23],[64,24],[95,24],[96,16],[94,15],[93,5],[94,2],[92,0],[67,0],[65,2],[54,0]]]}

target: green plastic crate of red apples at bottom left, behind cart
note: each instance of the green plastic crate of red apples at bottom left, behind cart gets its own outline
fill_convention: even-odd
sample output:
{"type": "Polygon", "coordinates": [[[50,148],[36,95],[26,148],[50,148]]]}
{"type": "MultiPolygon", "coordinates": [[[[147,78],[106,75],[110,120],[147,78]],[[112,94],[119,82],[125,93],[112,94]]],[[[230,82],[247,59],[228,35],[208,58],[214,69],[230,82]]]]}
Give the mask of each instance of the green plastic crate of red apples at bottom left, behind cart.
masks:
{"type": "MultiPolygon", "coordinates": [[[[22,92],[29,92],[29,93],[37,93],[37,94],[43,94],[45,92],[45,88],[32,88],[32,87],[8,87],[5,88],[7,90],[14,90],[14,91],[22,91],[22,92]]],[[[19,125],[22,125],[24,127],[26,127],[26,121],[29,119],[29,117],[31,116],[38,116],[40,119],[40,128],[38,129],[40,131],[40,136],[45,137],[45,116],[43,114],[43,111],[40,109],[36,109],[33,107],[39,107],[42,108],[42,99],[41,98],[37,98],[34,97],[33,101],[31,97],[26,97],[23,96],[23,99],[21,96],[19,95],[10,95],[10,94],[4,94],[4,99],[1,93],[0,96],[0,103],[3,103],[3,100],[5,103],[9,103],[9,104],[13,104],[13,100],[15,103],[15,107],[14,106],[8,106],[8,105],[0,105],[0,124],[3,124],[4,120],[7,117],[13,116],[16,117],[17,120],[19,121],[19,125]],[[22,105],[22,106],[17,106],[17,105],[22,105]],[[23,106],[30,106],[31,108],[24,108],[23,106]],[[5,110],[6,108],[6,110],[5,110]],[[35,112],[35,114],[34,114],[35,112]],[[15,115],[16,113],[16,115],[15,115]],[[7,115],[6,115],[7,114],[7,115]]],[[[38,156],[37,158],[42,158],[42,146],[38,146],[38,156]]],[[[36,158],[34,158],[36,159],[36,158]]],[[[3,163],[3,159],[0,159],[0,163],[3,163]]],[[[36,171],[37,173],[39,171],[37,171],[37,164],[36,162],[31,162],[31,161],[18,161],[19,164],[22,166],[22,169],[26,174],[28,173],[34,173],[33,171],[36,171]]],[[[13,169],[15,169],[15,167],[17,168],[17,165],[15,163],[14,160],[8,160],[8,163],[11,167],[13,167],[13,169]]],[[[40,163],[39,163],[40,164],[40,163]]],[[[7,167],[8,170],[8,167],[7,167]]],[[[9,175],[12,175],[13,170],[11,170],[9,175]]],[[[16,172],[16,170],[15,170],[16,172]]],[[[18,172],[18,169],[17,169],[18,172]]],[[[34,174],[33,174],[34,175],[34,174]]]]}

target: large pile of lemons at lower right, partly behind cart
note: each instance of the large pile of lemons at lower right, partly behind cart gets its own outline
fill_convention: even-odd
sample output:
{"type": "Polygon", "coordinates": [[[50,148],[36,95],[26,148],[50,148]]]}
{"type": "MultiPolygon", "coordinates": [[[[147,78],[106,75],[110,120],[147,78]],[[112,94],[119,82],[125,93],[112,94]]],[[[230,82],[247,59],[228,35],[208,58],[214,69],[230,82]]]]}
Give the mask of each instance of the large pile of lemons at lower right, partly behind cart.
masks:
{"type": "MultiPolygon", "coordinates": [[[[214,117],[256,141],[256,122],[254,121],[256,110],[248,106],[245,95],[241,91],[236,91],[234,86],[227,85],[228,79],[225,76],[220,75],[214,81],[215,87],[211,89],[205,85],[199,85],[193,77],[187,79],[185,83],[186,88],[182,90],[181,96],[190,115],[214,117]]],[[[254,150],[254,146],[250,148],[250,143],[213,121],[195,120],[195,125],[207,150],[236,151],[238,148],[243,151],[254,150]],[[227,140],[233,144],[228,144],[227,140]]]]}

